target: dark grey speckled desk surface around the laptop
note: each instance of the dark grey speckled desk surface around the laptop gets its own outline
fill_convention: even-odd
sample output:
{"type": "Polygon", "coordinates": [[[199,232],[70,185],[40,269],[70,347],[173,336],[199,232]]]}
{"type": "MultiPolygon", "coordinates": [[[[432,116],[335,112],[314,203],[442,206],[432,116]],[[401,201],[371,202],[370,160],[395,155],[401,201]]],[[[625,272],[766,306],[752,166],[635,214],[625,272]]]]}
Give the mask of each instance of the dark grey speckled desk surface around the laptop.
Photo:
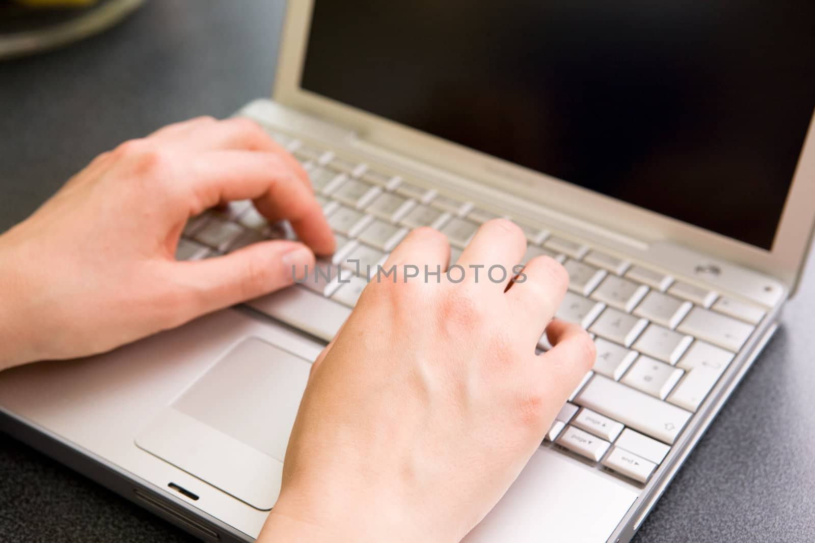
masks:
{"type": "MultiPolygon", "coordinates": [[[[86,42],[0,63],[0,231],[117,142],[270,94],[281,8],[152,0],[86,42]]],[[[811,260],[778,335],[636,541],[815,540],[811,260]]],[[[0,541],[191,539],[0,435],[0,541]]]]}

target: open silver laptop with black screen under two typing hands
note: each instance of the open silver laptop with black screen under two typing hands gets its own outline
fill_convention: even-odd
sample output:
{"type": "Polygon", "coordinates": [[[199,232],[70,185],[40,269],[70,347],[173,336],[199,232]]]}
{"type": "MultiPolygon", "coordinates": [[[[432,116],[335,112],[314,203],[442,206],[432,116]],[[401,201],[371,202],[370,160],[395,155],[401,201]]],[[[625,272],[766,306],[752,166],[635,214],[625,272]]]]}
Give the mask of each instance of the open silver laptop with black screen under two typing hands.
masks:
{"type": "MultiPolygon", "coordinates": [[[[597,360],[465,541],[628,541],[778,326],[815,221],[807,2],[289,2],[257,121],[345,269],[112,353],[0,374],[0,427],[205,541],[252,541],[311,361],[416,226],[509,217],[597,360]],[[359,265],[359,268],[358,268],[359,265]]],[[[247,202],[179,259],[290,237],[247,202]]],[[[548,348],[545,339],[539,345],[548,348]]],[[[484,466],[490,469],[490,466],[484,466]]]]}

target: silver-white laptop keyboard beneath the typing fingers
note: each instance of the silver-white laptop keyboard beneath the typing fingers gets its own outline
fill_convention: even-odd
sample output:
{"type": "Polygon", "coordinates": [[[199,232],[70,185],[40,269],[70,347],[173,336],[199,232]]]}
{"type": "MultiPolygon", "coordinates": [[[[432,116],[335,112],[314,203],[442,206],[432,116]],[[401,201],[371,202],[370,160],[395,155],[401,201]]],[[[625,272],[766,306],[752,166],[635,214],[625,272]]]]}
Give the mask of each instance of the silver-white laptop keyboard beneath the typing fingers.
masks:
{"type": "MultiPolygon", "coordinates": [[[[336,334],[356,304],[367,284],[366,266],[375,270],[411,229],[431,226],[447,235],[454,263],[482,222],[508,217],[383,173],[374,164],[271,135],[309,173],[337,237],[337,252],[318,265],[341,265],[350,273],[343,282],[310,278],[249,306],[322,339],[336,334]],[[362,277],[354,275],[356,261],[362,277]]],[[[568,271],[569,291],[557,317],[579,323],[597,345],[593,370],[557,414],[544,445],[645,484],[764,309],[551,229],[516,222],[528,243],[522,263],[546,254],[568,271]]],[[[232,202],[188,221],[176,258],[218,256],[262,239],[294,234],[288,223],[268,224],[249,201],[232,202]]],[[[544,335],[538,348],[548,347],[544,335]]]]}

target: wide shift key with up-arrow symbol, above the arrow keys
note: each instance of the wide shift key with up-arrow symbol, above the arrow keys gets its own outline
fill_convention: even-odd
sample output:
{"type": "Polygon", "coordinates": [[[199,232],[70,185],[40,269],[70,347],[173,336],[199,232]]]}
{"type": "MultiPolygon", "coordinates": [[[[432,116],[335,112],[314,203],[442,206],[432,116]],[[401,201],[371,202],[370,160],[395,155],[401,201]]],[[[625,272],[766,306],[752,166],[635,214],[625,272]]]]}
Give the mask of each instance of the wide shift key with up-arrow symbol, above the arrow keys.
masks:
{"type": "Polygon", "coordinates": [[[575,403],[668,444],[676,440],[690,418],[685,409],[602,375],[595,375],[586,384],[575,403]]]}

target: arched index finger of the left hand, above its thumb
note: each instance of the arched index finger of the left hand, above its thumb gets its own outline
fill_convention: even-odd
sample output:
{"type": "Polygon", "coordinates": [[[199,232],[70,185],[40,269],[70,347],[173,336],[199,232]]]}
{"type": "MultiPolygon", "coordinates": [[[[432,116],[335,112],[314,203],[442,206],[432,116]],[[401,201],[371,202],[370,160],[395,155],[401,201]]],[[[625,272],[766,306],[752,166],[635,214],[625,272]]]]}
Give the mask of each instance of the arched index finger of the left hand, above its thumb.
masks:
{"type": "Polygon", "coordinates": [[[318,254],[334,252],[334,234],[310,189],[297,182],[277,155],[252,151],[212,151],[185,161],[195,195],[195,215],[221,201],[252,199],[270,222],[287,219],[297,237],[318,254]]]}

